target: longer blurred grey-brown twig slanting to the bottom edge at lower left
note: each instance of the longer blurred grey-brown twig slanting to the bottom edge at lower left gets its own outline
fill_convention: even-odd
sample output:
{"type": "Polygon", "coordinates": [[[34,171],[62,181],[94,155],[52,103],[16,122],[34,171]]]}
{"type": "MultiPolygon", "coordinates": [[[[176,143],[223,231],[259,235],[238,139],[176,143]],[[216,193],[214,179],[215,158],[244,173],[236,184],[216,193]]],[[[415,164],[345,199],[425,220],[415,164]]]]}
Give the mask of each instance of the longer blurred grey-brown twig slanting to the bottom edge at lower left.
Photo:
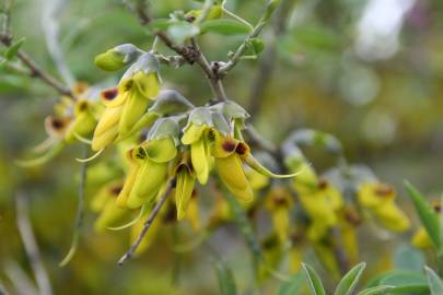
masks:
{"type": "Polygon", "coordinates": [[[37,243],[35,240],[34,232],[28,219],[28,209],[26,198],[22,193],[16,194],[16,223],[19,226],[20,236],[30,259],[35,280],[38,285],[39,294],[51,295],[49,276],[46,273],[37,243]]]}

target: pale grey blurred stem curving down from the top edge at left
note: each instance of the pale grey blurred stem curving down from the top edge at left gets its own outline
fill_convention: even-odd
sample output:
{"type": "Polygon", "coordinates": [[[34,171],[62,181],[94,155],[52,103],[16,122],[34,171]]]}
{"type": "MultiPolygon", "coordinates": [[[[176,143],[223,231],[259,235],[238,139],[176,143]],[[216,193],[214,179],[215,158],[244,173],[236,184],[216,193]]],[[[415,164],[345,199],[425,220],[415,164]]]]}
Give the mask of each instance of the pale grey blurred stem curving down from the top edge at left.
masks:
{"type": "Polygon", "coordinates": [[[58,40],[59,24],[57,19],[62,12],[66,3],[67,0],[46,0],[42,17],[42,25],[45,32],[46,46],[58,72],[60,73],[65,83],[69,85],[69,87],[73,87],[75,84],[75,79],[66,63],[63,52],[60,48],[60,43],[58,40]]]}

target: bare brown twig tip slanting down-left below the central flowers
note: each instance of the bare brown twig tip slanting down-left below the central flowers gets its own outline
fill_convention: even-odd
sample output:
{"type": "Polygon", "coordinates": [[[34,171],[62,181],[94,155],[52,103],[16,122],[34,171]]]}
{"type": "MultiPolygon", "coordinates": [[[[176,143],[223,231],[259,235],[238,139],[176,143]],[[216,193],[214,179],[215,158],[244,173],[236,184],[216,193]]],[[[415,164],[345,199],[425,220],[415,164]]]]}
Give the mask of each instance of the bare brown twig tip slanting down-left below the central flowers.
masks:
{"type": "Polygon", "coordinates": [[[171,178],[166,185],[166,189],[163,194],[160,197],[158,203],[152,209],[151,214],[149,215],[148,220],[144,222],[143,228],[140,232],[139,237],[137,238],[136,243],[131,245],[129,250],[118,260],[118,264],[123,266],[127,260],[131,259],[133,253],[136,252],[137,248],[139,247],[140,243],[143,240],[144,236],[147,235],[149,228],[152,225],[156,214],[159,214],[160,209],[162,209],[164,202],[166,201],[167,197],[170,196],[172,189],[175,186],[176,176],[171,178]]]}

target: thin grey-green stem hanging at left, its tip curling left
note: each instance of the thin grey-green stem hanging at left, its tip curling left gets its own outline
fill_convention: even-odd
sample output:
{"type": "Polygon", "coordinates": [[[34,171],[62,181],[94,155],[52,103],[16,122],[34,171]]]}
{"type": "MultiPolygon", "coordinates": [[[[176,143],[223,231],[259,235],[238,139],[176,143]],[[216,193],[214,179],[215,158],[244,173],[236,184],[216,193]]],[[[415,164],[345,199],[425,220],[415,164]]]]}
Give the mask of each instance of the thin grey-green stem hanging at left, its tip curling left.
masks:
{"type": "MultiPolygon", "coordinates": [[[[89,146],[84,144],[83,146],[83,158],[88,157],[89,146]]],[[[77,206],[77,216],[75,216],[75,226],[72,235],[71,247],[67,256],[59,263],[60,267],[65,267],[71,261],[75,255],[77,247],[79,246],[80,235],[83,227],[83,217],[84,217],[84,193],[86,188],[86,174],[88,174],[88,162],[81,162],[80,164],[80,181],[79,181],[79,192],[78,192],[78,206],[77,206]]]]}

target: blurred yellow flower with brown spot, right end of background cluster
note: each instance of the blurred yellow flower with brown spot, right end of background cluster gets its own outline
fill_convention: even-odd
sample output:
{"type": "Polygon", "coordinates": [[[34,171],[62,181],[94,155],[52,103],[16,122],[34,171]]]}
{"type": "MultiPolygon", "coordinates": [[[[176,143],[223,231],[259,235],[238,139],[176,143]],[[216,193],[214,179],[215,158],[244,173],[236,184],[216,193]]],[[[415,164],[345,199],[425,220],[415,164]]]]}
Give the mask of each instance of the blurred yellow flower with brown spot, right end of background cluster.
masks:
{"type": "Polygon", "coordinates": [[[394,188],[376,182],[363,182],[358,189],[358,200],[382,225],[394,232],[405,232],[410,222],[395,203],[394,188]]]}

